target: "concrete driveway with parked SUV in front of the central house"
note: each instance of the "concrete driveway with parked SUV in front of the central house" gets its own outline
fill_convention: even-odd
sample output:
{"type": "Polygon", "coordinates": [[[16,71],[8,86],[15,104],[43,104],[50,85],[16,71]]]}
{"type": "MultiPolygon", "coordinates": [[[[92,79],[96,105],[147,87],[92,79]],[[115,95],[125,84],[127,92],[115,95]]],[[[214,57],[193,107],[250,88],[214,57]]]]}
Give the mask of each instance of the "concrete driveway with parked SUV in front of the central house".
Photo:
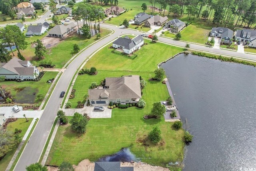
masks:
{"type": "Polygon", "coordinates": [[[108,107],[104,107],[103,112],[94,112],[92,107],[84,107],[80,109],[64,109],[63,111],[66,112],[66,116],[73,116],[75,112],[80,114],[87,113],[90,118],[111,118],[112,110],[108,107]]]}

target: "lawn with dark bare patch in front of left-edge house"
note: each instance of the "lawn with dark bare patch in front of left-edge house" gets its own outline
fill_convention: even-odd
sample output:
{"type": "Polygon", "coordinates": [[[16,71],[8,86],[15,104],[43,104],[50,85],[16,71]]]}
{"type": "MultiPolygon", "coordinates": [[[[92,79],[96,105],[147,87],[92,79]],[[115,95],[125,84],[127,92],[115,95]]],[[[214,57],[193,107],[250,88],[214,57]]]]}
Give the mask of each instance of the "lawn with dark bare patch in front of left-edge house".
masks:
{"type": "Polygon", "coordinates": [[[47,71],[40,81],[23,81],[17,83],[15,81],[4,81],[1,83],[2,88],[10,92],[14,99],[14,102],[19,104],[38,104],[42,103],[42,100],[36,99],[37,94],[46,95],[51,84],[46,83],[49,79],[55,78],[58,72],[47,71]],[[33,93],[36,93],[35,95],[33,93]]]}

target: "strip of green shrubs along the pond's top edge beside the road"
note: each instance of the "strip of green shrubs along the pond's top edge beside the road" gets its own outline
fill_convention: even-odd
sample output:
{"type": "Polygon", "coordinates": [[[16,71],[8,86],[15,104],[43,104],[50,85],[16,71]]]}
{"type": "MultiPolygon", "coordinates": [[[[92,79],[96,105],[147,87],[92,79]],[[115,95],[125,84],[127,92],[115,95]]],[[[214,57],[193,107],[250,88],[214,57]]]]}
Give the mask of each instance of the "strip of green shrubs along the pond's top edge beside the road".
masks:
{"type": "Polygon", "coordinates": [[[256,67],[256,63],[250,63],[250,62],[247,62],[247,61],[239,61],[237,59],[234,59],[233,57],[231,58],[228,58],[228,57],[223,57],[223,56],[217,56],[217,55],[211,55],[211,54],[208,54],[208,53],[203,53],[203,52],[192,52],[193,55],[198,55],[198,56],[202,56],[202,57],[208,57],[208,58],[213,58],[213,59],[219,59],[221,61],[227,61],[227,62],[235,62],[235,63],[242,63],[244,65],[251,65],[251,66],[254,66],[256,67]]]}

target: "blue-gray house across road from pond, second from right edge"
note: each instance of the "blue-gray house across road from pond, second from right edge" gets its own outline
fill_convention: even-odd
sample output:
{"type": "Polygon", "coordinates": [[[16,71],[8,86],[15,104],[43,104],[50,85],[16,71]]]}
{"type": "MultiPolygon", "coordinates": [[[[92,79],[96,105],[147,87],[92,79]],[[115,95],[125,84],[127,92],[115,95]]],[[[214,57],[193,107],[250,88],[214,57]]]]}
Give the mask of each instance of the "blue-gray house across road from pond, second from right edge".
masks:
{"type": "Polygon", "coordinates": [[[233,31],[229,28],[212,28],[210,36],[220,37],[222,43],[232,43],[233,31]]]}

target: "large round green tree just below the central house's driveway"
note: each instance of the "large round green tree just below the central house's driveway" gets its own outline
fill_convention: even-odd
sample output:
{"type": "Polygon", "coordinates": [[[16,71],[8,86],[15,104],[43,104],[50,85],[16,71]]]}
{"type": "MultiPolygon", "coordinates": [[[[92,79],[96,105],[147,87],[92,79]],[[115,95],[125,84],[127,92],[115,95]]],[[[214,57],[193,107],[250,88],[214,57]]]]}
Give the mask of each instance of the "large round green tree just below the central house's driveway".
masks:
{"type": "Polygon", "coordinates": [[[73,118],[70,120],[71,128],[78,134],[84,134],[86,131],[87,119],[80,113],[74,113],[73,118]]]}

